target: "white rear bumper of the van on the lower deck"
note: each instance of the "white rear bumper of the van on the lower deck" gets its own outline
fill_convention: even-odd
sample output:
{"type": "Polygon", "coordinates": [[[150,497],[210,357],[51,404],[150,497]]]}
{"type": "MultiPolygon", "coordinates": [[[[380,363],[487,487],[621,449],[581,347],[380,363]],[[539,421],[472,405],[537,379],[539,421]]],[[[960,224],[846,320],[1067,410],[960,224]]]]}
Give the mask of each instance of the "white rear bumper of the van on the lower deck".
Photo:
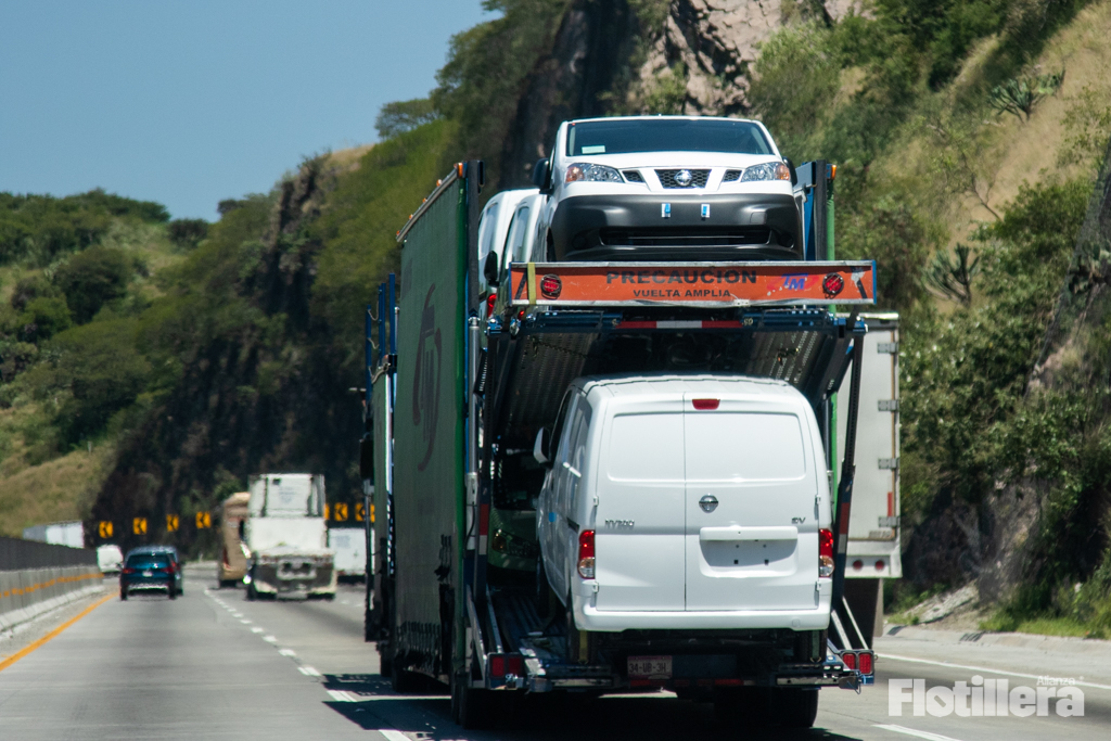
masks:
{"type": "Polygon", "coordinates": [[[830,624],[829,592],[819,597],[812,610],[714,610],[707,612],[613,611],[598,610],[590,598],[575,594],[574,622],[580,630],[618,632],[622,630],[729,630],[782,628],[825,630],[830,624]]]}

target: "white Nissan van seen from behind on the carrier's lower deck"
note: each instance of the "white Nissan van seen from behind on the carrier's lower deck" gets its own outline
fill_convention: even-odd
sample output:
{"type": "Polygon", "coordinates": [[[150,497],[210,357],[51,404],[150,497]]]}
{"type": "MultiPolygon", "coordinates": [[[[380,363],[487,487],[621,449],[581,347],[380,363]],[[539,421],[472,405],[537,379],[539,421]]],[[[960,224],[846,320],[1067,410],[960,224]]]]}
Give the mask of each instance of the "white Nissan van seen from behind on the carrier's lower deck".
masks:
{"type": "Polygon", "coordinates": [[[793,387],[583,378],[547,440],[542,575],[578,630],[829,625],[829,482],[793,387]]]}

